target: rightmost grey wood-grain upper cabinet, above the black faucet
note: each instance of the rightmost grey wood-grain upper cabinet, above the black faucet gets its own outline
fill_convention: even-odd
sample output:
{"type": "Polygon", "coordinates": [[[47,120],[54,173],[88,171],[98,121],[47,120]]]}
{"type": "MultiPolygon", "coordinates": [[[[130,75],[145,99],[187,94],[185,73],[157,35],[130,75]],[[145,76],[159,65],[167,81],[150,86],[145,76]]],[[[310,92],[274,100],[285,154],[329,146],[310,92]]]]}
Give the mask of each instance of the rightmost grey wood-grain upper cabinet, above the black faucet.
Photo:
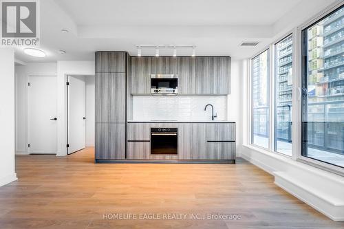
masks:
{"type": "Polygon", "coordinates": [[[196,94],[230,94],[230,57],[196,57],[196,94]]]}

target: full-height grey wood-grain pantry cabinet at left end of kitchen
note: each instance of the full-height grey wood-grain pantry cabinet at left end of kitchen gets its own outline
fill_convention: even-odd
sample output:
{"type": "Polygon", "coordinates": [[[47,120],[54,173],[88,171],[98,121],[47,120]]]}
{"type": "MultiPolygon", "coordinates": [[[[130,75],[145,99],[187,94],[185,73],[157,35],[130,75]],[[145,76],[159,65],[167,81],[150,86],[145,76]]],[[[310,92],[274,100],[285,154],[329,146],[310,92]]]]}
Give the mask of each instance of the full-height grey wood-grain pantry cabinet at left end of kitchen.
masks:
{"type": "Polygon", "coordinates": [[[99,160],[125,159],[127,53],[96,52],[96,142],[99,160]]]}

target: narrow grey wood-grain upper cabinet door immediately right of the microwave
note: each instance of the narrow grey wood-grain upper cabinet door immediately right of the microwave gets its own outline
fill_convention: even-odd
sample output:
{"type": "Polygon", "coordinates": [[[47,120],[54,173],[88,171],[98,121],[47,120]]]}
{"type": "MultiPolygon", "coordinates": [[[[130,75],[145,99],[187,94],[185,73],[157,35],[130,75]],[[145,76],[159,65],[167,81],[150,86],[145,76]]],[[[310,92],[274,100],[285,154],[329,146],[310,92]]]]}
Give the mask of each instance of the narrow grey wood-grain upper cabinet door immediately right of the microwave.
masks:
{"type": "Polygon", "coordinates": [[[196,58],[178,57],[178,93],[196,93],[196,58]]]}

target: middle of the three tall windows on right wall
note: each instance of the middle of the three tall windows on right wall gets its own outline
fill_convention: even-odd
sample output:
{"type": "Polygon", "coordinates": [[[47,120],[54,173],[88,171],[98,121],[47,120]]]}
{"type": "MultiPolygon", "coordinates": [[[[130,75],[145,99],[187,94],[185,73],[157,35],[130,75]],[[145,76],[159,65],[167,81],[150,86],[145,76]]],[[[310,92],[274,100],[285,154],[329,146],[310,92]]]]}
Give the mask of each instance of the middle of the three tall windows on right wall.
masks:
{"type": "Polygon", "coordinates": [[[275,45],[275,151],[292,155],[292,35],[275,45]]]}

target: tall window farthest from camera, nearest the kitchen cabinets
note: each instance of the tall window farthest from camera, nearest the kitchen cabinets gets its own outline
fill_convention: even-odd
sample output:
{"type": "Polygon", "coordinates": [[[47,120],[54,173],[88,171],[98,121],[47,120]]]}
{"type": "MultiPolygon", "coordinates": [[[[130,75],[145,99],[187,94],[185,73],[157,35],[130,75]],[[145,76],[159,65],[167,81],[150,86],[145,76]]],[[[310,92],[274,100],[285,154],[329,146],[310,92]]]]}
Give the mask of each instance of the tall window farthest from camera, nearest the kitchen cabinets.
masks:
{"type": "Polygon", "coordinates": [[[269,148],[269,50],[252,58],[252,144],[269,148]]]}

